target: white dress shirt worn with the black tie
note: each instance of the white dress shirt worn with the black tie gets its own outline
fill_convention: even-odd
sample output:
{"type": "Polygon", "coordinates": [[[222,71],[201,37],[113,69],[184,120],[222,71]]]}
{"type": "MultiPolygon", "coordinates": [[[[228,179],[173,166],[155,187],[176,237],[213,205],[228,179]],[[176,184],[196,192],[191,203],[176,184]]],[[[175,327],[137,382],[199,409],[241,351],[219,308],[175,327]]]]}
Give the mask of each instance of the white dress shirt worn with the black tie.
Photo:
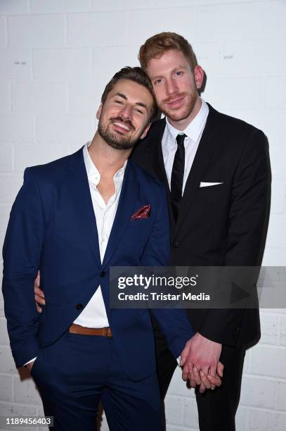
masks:
{"type": "MultiPolygon", "coordinates": [[[[202,100],[202,99],[201,99],[202,100]]],[[[186,182],[188,180],[188,175],[190,173],[190,168],[192,168],[195,154],[197,152],[197,147],[200,144],[200,139],[202,137],[202,132],[204,131],[204,126],[207,122],[207,115],[209,114],[209,106],[206,102],[202,100],[202,106],[200,111],[197,113],[193,121],[186,127],[186,130],[177,130],[170,123],[166,117],[166,127],[164,130],[164,135],[162,137],[162,151],[164,158],[164,166],[166,170],[167,180],[169,183],[169,188],[171,189],[171,170],[173,168],[174,157],[177,150],[176,137],[178,134],[186,135],[184,140],[185,146],[185,170],[183,173],[183,189],[182,194],[185,190],[186,182]]]]}

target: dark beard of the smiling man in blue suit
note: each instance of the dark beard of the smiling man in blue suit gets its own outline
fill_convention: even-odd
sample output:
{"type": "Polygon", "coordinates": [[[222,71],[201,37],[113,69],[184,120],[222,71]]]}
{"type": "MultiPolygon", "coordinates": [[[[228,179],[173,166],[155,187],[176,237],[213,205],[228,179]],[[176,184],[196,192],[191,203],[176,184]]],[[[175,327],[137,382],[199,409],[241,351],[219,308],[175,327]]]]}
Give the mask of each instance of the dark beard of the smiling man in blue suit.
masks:
{"type": "Polygon", "coordinates": [[[112,132],[110,130],[110,124],[112,124],[114,121],[120,121],[121,123],[124,123],[129,127],[133,128],[134,130],[134,126],[131,124],[130,121],[124,121],[122,120],[122,118],[119,118],[119,117],[110,118],[110,120],[108,121],[108,124],[105,126],[103,125],[100,117],[98,121],[98,133],[100,137],[103,138],[106,144],[108,144],[114,149],[126,150],[126,149],[133,148],[136,142],[138,141],[138,139],[134,139],[134,138],[132,139],[131,136],[121,135],[119,132],[112,132]]]}

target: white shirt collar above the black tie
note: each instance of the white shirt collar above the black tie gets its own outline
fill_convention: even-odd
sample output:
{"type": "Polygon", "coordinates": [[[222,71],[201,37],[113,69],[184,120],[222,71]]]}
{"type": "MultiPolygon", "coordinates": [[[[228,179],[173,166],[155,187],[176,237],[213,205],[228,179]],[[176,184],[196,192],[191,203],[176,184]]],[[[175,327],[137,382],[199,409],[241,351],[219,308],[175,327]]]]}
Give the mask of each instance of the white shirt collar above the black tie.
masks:
{"type": "Polygon", "coordinates": [[[197,139],[199,139],[202,129],[204,128],[204,125],[207,121],[207,115],[209,113],[209,106],[207,106],[206,102],[201,99],[202,106],[200,107],[200,111],[197,113],[193,121],[190,122],[190,124],[186,127],[185,130],[177,130],[174,126],[172,126],[169,123],[168,118],[166,117],[166,125],[168,133],[171,135],[172,140],[176,142],[176,136],[178,134],[187,135],[188,138],[190,138],[193,142],[197,142],[197,139]]]}

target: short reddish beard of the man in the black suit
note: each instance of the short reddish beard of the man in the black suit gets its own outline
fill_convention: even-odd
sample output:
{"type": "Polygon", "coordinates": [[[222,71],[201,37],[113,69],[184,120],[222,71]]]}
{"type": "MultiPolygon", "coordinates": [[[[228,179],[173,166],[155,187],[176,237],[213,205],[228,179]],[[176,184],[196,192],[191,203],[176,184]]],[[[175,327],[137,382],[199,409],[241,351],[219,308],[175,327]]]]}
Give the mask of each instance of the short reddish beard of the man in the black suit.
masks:
{"type": "Polygon", "coordinates": [[[176,96],[169,97],[168,99],[165,99],[160,104],[158,104],[160,110],[162,113],[167,115],[170,120],[173,121],[181,121],[186,120],[186,118],[190,117],[191,113],[193,112],[193,109],[195,107],[195,103],[197,101],[197,92],[196,93],[181,93],[176,94],[176,96]],[[178,97],[185,96],[185,101],[183,106],[180,108],[169,108],[168,103],[174,99],[177,99],[178,97]]]}

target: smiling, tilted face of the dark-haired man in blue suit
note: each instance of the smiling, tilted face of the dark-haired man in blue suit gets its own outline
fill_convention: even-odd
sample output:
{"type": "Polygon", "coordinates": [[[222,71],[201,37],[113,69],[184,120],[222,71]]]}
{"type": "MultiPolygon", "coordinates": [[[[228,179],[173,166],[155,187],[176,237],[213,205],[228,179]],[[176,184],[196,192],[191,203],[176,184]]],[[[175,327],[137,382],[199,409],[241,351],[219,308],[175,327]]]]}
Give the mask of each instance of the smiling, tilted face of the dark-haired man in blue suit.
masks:
{"type": "Polygon", "coordinates": [[[112,148],[131,149],[148,132],[152,106],[152,94],[143,85],[117,81],[96,114],[100,137],[112,148]]]}

